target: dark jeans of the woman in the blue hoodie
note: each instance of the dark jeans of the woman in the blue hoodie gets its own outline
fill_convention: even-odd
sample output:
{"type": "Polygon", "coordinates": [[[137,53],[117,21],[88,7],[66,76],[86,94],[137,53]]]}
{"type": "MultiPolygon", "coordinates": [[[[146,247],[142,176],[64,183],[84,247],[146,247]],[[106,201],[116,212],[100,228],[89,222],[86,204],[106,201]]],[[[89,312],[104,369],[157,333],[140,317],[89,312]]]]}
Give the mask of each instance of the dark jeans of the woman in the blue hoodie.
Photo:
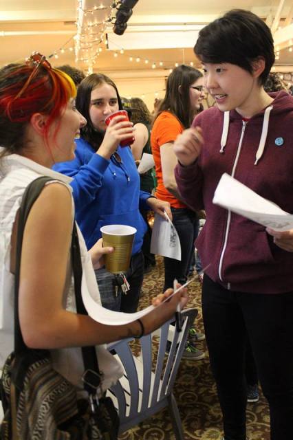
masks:
{"type": "Polygon", "coordinates": [[[144,280],[144,256],[141,251],[131,257],[130,267],[126,273],[130,290],[126,294],[116,288],[115,275],[105,269],[98,269],[95,272],[102,307],[129,314],[137,311],[142,281],[144,280]]]}

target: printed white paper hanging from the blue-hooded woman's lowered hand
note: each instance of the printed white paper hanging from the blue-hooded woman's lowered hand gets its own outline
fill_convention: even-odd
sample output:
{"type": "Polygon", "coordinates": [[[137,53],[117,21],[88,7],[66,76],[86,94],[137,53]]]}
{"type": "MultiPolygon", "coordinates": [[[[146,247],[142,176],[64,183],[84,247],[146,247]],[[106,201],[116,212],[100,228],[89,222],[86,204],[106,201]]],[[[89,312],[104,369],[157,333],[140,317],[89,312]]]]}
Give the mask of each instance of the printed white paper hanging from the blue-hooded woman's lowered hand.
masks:
{"type": "Polygon", "coordinates": [[[166,213],[165,217],[166,219],[163,219],[159,214],[155,214],[151,253],[181,261],[181,245],[177,230],[166,213]]]}

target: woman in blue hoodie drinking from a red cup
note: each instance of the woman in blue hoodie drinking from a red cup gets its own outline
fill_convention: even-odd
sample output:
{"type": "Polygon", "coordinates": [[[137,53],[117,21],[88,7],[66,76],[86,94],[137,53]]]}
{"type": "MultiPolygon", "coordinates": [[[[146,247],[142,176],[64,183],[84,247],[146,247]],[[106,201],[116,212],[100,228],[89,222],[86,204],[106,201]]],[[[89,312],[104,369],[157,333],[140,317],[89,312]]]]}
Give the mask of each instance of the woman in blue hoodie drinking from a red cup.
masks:
{"type": "Polygon", "coordinates": [[[144,272],[142,254],[146,224],[140,208],[154,210],[171,217],[168,202],[140,191],[140,177],[131,149],[120,142],[134,135],[132,122],[121,116],[113,118],[107,127],[105,119],[122,109],[118,89],[113,81],[102,74],[91,74],[78,87],[76,108],[87,120],[76,140],[76,157],[55,169],[73,177],[76,220],[83,232],[87,248],[101,237],[104,225],[124,224],[137,232],[133,242],[130,268],[126,274],[130,284],[122,294],[119,279],[102,268],[96,270],[102,305],[112,310],[132,313],[138,307],[144,272]]]}

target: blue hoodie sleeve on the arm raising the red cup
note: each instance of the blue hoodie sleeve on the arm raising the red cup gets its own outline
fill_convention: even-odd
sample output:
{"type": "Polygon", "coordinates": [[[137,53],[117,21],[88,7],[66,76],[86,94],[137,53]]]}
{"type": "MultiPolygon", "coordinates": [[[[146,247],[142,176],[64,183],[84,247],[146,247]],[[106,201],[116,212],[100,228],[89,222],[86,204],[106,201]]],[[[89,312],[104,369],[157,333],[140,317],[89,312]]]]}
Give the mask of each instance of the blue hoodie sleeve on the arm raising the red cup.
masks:
{"type": "Polygon", "coordinates": [[[76,157],[70,162],[54,165],[54,170],[74,177],[71,182],[76,210],[85,208],[96,198],[102,186],[102,179],[109,166],[109,160],[94,153],[89,162],[85,163],[84,155],[76,150],[76,157]]]}

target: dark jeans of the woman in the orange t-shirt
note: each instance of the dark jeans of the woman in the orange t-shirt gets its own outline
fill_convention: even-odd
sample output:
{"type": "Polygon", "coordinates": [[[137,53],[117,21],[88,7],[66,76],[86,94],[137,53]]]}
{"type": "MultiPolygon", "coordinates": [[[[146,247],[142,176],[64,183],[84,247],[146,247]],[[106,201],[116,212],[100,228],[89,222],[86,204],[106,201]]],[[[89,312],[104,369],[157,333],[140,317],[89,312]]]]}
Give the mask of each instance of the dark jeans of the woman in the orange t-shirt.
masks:
{"type": "Polygon", "coordinates": [[[188,208],[171,208],[171,211],[173,215],[172,222],[180,239],[181,261],[164,257],[164,290],[169,289],[169,287],[173,288],[174,278],[180,284],[186,283],[191,255],[194,252],[195,223],[197,223],[197,230],[199,224],[196,212],[188,208]]]}

